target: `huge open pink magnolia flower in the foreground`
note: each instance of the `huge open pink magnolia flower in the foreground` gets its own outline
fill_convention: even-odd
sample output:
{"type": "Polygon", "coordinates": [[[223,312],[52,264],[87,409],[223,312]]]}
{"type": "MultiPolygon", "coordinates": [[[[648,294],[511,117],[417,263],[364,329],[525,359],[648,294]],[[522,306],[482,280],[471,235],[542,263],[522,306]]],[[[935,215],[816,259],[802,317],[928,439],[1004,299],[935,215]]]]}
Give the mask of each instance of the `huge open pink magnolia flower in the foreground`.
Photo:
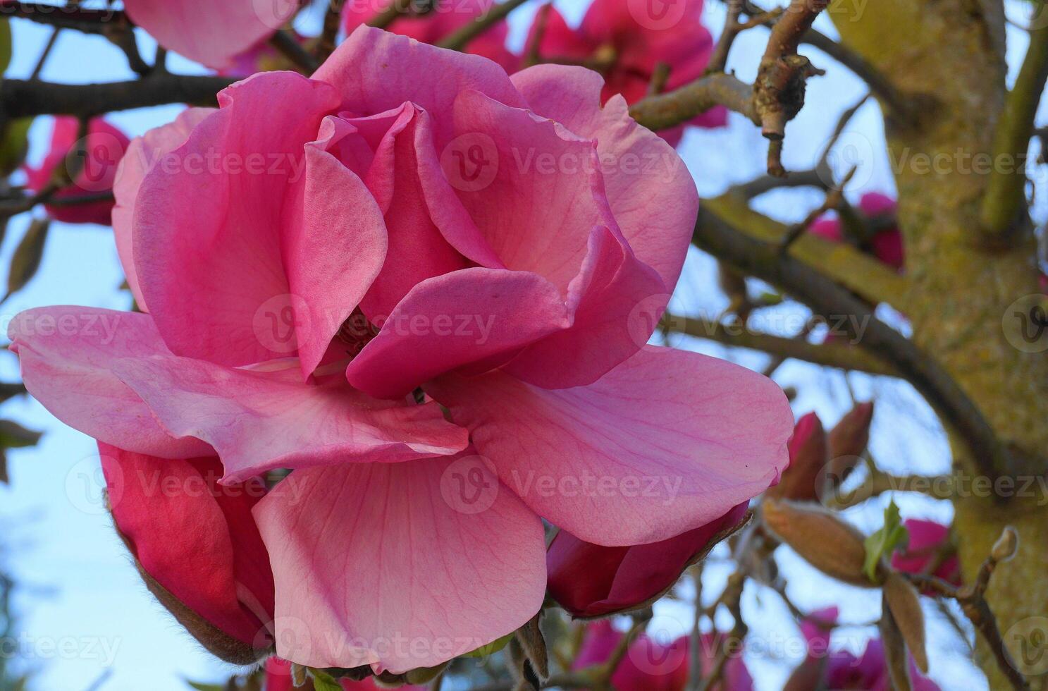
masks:
{"type": "Polygon", "coordinates": [[[438,665],[539,610],[540,516],[657,542],[785,466],[773,383],[645,345],[698,197],[601,88],[359,27],[312,79],[256,74],[132,145],[114,232],[148,314],[14,320],[72,427],[217,455],[223,482],[292,471],[253,511],[281,657],[438,665]]]}

